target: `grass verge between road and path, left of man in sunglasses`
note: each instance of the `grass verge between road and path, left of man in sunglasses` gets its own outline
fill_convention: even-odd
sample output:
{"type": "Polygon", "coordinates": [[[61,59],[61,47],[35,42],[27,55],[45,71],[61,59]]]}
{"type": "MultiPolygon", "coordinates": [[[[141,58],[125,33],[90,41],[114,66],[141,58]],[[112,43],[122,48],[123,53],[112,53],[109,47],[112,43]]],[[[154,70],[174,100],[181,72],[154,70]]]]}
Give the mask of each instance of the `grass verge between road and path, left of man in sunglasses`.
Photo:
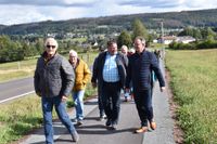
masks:
{"type": "Polygon", "coordinates": [[[40,99],[36,95],[1,104],[0,109],[1,144],[21,139],[42,123],[40,99]]]}

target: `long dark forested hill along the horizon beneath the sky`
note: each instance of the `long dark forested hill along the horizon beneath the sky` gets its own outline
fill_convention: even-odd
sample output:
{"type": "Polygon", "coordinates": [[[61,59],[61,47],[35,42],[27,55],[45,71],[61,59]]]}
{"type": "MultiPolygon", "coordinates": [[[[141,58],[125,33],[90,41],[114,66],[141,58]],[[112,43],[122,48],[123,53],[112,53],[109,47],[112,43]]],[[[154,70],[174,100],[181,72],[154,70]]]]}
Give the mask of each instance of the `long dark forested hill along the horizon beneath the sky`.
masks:
{"type": "Polygon", "coordinates": [[[159,28],[163,19],[165,28],[182,28],[186,26],[217,27],[217,9],[182,11],[167,13],[141,13],[130,15],[115,15],[95,18],[75,18],[68,21],[47,21],[12,26],[0,25],[0,34],[5,35],[26,35],[26,34],[47,34],[47,32],[76,32],[82,30],[95,31],[98,26],[107,28],[130,29],[131,22],[140,18],[146,28],[159,28]]]}

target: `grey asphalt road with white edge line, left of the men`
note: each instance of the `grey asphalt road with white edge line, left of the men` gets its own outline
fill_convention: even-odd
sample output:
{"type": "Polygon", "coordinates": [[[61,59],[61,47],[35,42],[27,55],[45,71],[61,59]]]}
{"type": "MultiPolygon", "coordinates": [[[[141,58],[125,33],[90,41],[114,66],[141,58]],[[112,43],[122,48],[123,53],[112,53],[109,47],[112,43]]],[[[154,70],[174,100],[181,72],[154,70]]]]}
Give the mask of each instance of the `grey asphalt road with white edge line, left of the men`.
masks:
{"type": "Polygon", "coordinates": [[[24,78],[0,83],[0,103],[34,93],[34,78],[24,78]]]}

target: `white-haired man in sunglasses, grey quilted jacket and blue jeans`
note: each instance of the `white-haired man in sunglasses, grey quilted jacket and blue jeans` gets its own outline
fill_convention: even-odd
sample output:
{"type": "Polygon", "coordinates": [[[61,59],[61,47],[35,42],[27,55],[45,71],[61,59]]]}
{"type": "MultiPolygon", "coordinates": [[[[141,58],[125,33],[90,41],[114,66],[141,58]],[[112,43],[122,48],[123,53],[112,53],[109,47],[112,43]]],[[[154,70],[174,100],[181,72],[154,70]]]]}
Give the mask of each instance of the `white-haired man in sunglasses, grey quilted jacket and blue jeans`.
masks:
{"type": "Polygon", "coordinates": [[[53,106],[60,120],[72,134],[73,141],[77,142],[78,133],[66,113],[67,95],[75,81],[74,70],[68,61],[56,53],[58,42],[54,38],[46,40],[44,49],[37,62],[34,84],[37,95],[41,96],[46,143],[53,144],[53,106]]]}

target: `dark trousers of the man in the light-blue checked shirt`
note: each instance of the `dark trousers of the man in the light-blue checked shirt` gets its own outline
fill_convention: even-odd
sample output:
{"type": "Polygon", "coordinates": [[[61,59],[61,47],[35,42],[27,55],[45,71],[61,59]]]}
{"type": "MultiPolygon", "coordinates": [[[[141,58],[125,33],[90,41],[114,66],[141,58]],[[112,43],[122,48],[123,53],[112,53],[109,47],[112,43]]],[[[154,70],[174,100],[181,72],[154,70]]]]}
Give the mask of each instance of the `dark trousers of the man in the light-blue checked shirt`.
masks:
{"type": "Polygon", "coordinates": [[[107,119],[113,125],[117,125],[120,108],[120,82],[103,82],[102,102],[107,119]]]}

